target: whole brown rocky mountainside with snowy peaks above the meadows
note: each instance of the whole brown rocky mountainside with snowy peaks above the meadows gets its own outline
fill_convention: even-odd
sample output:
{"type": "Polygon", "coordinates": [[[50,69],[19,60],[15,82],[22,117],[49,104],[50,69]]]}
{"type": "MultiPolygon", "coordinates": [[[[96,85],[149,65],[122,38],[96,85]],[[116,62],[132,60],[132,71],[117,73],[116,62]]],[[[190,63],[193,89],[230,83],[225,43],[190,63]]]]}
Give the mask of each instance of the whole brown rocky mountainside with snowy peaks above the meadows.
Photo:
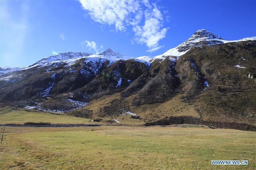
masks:
{"type": "Polygon", "coordinates": [[[1,106],[103,123],[255,129],[256,37],[198,30],[159,56],[60,53],[0,76],[1,106]]]}

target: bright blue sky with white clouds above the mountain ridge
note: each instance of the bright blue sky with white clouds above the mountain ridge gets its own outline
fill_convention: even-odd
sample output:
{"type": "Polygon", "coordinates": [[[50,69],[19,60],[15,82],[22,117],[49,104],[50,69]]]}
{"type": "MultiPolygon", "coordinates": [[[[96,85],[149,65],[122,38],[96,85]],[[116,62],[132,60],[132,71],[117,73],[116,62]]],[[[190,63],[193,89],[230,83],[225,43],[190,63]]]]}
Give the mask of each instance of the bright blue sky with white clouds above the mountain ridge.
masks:
{"type": "Polygon", "coordinates": [[[0,1],[1,66],[55,53],[156,56],[199,29],[228,40],[256,36],[256,1],[0,1]]]}

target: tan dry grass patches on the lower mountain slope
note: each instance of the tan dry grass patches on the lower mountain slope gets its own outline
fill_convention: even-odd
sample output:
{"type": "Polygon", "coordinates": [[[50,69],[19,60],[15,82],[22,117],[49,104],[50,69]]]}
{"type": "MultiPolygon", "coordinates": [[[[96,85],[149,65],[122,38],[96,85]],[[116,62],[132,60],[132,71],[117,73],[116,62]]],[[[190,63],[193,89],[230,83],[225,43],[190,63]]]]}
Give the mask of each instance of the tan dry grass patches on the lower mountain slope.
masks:
{"type": "Polygon", "coordinates": [[[181,95],[174,96],[171,100],[164,103],[133,106],[132,101],[135,96],[137,95],[131,95],[123,100],[123,106],[129,107],[129,111],[141,116],[142,119],[132,119],[131,115],[100,117],[100,110],[104,110],[104,106],[110,106],[111,101],[120,100],[120,98],[122,98],[120,93],[105,95],[101,98],[94,99],[87,106],[79,110],[92,110],[92,119],[100,117],[102,119],[100,123],[108,123],[108,120],[119,119],[120,123],[113,123],[116,125],[142,125],[148,121],[156,121],[170,116],[192,116],[200,118],[200,115],[192,104],[181,101],[181,95]]]}

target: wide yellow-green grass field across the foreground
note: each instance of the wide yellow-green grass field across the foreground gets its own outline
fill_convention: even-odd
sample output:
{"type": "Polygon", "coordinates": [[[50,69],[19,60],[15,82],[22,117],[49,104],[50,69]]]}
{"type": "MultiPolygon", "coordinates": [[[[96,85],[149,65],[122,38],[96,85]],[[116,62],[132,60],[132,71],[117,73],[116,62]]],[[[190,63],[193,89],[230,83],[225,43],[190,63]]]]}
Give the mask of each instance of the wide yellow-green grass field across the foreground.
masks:
{"type": "Polygon", "coordinates": [[[206,127],[6,127],[1,169],[256,169],[256,133],[206,127]],[[107,130],[107,136],[106,136],[107,130]],[[249,165],[211,165],[248,160],[249,165]]]}

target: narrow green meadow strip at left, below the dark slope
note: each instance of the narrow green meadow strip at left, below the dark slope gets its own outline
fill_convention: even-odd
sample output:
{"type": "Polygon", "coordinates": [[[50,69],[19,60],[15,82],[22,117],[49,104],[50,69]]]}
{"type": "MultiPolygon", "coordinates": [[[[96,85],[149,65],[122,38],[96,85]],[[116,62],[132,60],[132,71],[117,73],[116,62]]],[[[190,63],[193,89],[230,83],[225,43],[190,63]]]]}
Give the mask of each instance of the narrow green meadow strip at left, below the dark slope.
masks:
{"type": "MultiPolygon", "coordinates": [[[[1,109],[0,124],[15,123],[24,124],[26,122],[50,122],[63,124],[77,124],[90,122],[89,119],[65,115],[55,115],[50,113],[27,112],[22,110],[1,109]]],[[[95,123],[95,122],[94,122],[95,123]]]]}

